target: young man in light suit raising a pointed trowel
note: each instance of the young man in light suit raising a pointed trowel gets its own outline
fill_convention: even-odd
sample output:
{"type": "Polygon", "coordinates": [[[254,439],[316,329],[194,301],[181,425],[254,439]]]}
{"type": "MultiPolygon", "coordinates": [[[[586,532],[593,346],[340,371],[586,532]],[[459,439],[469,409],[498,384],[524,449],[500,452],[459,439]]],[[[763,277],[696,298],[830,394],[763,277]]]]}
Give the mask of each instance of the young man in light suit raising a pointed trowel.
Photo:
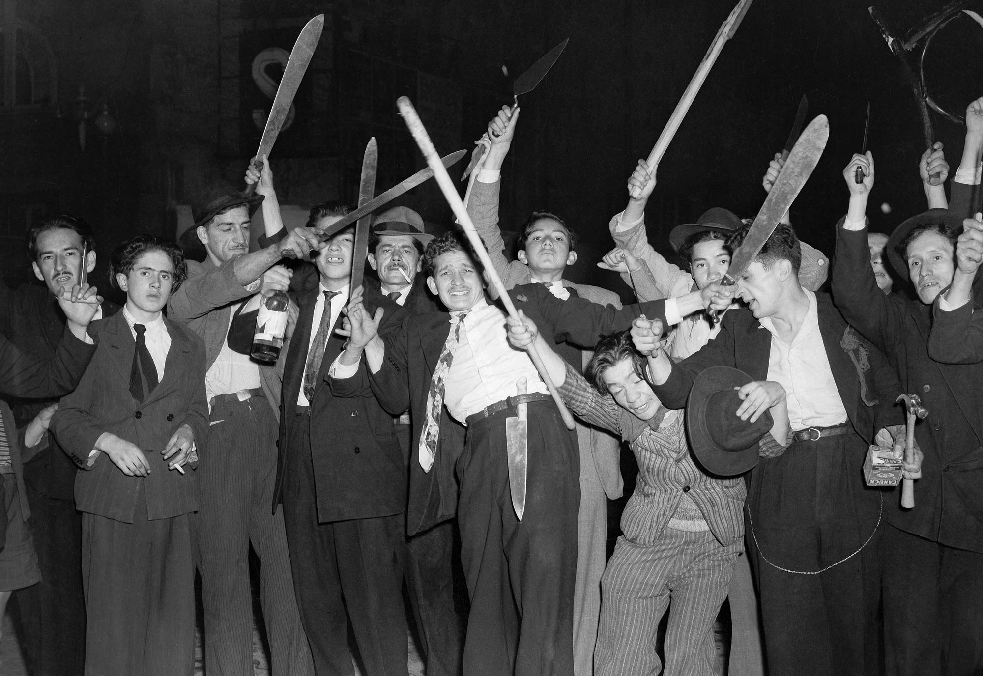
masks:
{"type": "MultiPolygon", "coordinates": [[[[575,284],[564,276],[577,261],[576,235],[563,220],[546,211],[534,211],[520,230],[518,260],[508,261],[498,226],[500,170],[515,135],[519,109],[502,108],[489,123],[489,149],[472,189],[468,212],[482,236],[495,271],[506,289],[542,284],[565,301],[571,296],[592,303],[621,307],[617,294],[587,284],[575,284]],[[509,113],[511,112],[511,116],[509,113]]],[[[563,358],[583,372],[590,351],[561,345],[563,358]]],[[[601,576],[607,562],[607,499],[621,497],[619,466],[621,444],[599,427],[577,422],[580,455],[580,509],[577,518],[577,576],[573,596],[574,676],[593,673],[594,645],[601,615],[601,576]]]]}

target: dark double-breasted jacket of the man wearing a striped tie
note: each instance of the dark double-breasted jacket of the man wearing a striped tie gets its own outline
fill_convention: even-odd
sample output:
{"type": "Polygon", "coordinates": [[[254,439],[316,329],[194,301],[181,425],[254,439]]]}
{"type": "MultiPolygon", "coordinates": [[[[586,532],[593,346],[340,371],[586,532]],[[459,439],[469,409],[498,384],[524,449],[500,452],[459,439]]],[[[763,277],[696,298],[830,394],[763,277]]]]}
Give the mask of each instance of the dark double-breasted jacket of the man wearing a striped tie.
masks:
{"type": "MultiPolygon", "coordinates": [[[[290,438],[291,421],[297,413],[311,333],[317,330],[312,322],[319,293],[316,287],[295,299],[300,317],[284,367],[274,510],[282,499],[286,464],[299,461],[290,457],[298,445],[290,438]]],[[[367,292],[365,306],[370,312],[379,306],[385,309],[382,330],[394,325],[396,304],[367,292]]],[[[340,322],[339,315],[335,327],[340,322]]],[[[382,410],[368,386],[347,398],[334,396],[326,386],[327,371],[344,341],[332,328],[311,402],[311,454],[321,523],[391,516],[401,514],[406,507],[406,465],[392,416],[382,410]]]]}

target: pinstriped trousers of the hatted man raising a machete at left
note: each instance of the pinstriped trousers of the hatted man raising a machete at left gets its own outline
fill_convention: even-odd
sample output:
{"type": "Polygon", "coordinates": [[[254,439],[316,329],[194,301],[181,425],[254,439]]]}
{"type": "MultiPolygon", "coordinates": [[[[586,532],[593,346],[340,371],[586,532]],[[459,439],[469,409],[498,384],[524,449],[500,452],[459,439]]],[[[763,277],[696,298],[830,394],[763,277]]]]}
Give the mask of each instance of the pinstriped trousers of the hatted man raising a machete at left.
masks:
{"type": "Polygon", "coordinates": [[[253,673],[250,543],[260,558],[260,603],[273,674],[314,673],[287,553],[283,511],[270,513],[277,423],[263,397],[215,401],[192,517],[202,572],[208,676],[253,673]]]}

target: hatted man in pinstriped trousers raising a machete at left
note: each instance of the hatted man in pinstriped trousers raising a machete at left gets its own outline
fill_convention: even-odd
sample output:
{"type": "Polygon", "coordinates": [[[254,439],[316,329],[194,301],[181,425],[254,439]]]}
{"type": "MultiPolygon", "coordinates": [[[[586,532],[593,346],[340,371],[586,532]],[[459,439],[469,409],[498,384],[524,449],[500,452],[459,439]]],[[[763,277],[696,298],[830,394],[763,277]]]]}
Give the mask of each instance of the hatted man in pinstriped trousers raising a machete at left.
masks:
{"type": "MultiPolygon", "coordinates": [[[[210,423],[198,468],[199,511],[192,517],[202,574],[204,659],[209,674],[241,674],[253,664],[250,545],[260,559],[260,603],[274,672],[314,671],[294,594],[283,514],[273,513],[281,373],[250,359],[255,321],[245,344],[230,331],[233,317],[259,307],[263,294],[285,291],[284,255],[318,247],[303,228],[250,252],[250,216],[260,203],[265,222],[278,222],[269,163],[256,195],[213,187],[195,205],[195,237],[203,262],[188,262],[188,279],[171,295],[168,316],[186,321],[204,341],[204,387],[210,423]]],[[[253,313],[255,317],[255,312],[253,313]]],[[[281,362],[282,364],[282,362],[281,362]]]]}

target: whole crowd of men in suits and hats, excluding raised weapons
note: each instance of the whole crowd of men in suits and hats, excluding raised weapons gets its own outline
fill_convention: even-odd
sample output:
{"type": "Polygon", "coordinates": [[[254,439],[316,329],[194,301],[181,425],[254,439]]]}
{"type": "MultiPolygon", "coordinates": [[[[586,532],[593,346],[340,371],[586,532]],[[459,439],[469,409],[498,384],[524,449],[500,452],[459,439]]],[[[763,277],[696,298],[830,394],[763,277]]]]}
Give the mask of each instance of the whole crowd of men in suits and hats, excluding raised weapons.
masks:
{"type": "Polygon", "coordinates": [[[386,207],[352,288],[356,226],[328,232],[350,207],[286,229],[264,157],[255,194],[215,186],[178,243],[115,247],[122,307],[87,283],[83,219],[30,227],[43,286],[0,285],[0,614],[14,593],[30,673],[191,674],[197,572],[205,673],[252,674],[252,549],[274,676],[407,674],[411,628],[428,676],[710,676],[724,601],[731,676],[983,674],[983,98],[951,199],[937,143],[928,210],[870,233],[855,154],[833,259],[786,214],[736,279],[750,220],[676,225],[672,262],[640,161],[597,262],[624,307],[569,281],[557,214],[507,255],[518,124],[492,118],[467,199],[492,269],[386,207]],[[902,395],[929,411],[913,440],[902,395]],[[872,447],[914,507],[865,480],[872,447]],[[608,557],[622,448],[638,477],[608,557]]]}

